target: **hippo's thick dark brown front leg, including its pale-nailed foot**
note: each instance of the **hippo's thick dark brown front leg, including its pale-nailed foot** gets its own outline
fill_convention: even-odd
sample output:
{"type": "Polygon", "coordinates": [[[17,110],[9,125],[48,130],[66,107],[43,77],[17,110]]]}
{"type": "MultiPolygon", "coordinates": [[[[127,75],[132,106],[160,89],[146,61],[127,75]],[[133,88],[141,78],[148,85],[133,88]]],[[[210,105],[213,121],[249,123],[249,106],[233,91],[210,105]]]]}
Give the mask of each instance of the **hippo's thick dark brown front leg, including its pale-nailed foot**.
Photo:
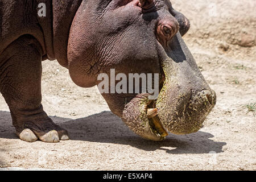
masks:
{"type": "Polygon", "coordinates": [[[42,53],[40,44],[26,35],[0,56],[0,92],[11,111],[16,134],[22,140],[59,142],[66,130],[52,122],[41,104],[42,53]]]}

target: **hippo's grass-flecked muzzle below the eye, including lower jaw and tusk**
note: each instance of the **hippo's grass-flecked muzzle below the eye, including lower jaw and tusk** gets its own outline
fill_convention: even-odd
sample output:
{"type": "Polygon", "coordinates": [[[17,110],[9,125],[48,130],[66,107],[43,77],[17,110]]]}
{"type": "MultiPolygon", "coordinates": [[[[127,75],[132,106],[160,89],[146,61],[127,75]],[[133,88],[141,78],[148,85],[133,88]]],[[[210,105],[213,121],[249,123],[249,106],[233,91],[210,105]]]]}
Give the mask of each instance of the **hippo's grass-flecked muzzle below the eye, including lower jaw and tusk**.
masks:
{"type": "Polygon", "coordinates": [[[126,105],[123,120],[143,138],[163,140],[168,131],[182,135],[201,129],[216,104],[210,89],[178,32],[168,49],[162,49],[163,84],[156,100],[148,94],[135,97],[126,105]]]}

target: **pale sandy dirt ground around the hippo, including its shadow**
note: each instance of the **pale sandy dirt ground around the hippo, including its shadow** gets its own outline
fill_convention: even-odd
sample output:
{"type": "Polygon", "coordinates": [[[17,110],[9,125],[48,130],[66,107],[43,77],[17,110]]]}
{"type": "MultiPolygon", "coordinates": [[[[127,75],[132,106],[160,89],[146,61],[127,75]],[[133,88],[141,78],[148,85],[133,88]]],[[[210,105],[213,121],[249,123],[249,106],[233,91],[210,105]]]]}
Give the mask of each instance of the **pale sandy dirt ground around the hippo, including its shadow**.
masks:
{"type": "Polygon", "coordinates": [[[2,169],[255,170],[256,1],[183,0],[174,7],[191,20],[184,39],[217,104],[199,132],[163,142],[133,134],[97,88],[79,88],[57,61],[43,62],[43,106],[69,131],[59,143],[23,142],[0,96],[2,169]],[[247,113],[247,114],[246,114],[247,113]]]}

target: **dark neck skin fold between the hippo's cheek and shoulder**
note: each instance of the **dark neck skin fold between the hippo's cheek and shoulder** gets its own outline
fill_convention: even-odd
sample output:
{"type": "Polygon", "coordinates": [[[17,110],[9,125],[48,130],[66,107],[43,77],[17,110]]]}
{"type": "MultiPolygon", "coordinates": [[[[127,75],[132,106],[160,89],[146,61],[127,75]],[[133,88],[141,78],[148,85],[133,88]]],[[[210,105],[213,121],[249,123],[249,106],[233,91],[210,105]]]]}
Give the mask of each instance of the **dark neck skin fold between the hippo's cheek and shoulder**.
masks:
{"type": "Polygon", "coordinates": [[[52,30],[55,59],[68,67],[67,47],[69,30],[82,0],[52,0],[52,30]]]}

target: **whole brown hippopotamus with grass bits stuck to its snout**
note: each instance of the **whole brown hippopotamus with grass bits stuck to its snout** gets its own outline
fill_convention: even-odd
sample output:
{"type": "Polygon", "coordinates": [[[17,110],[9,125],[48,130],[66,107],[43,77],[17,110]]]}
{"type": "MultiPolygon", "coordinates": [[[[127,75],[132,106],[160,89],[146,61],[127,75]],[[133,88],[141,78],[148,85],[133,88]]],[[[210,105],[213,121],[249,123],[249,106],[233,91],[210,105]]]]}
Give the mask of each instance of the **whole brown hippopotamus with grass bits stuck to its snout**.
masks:
{"type": "Polygon", "coordinates": [[[144,139],[199,131],[216,93],[183,40],[189,27],[169,0],[0,0],[0,92],[16,135],[27,142],[69,139],[41,104],[47,59],[57,60],[84,88],[99,85],[98,76],[110,76],[110,69],[125,76],[157,74],[151,80],[158,82],[156,98],[147,90],[102,96],[144,139]]]}

